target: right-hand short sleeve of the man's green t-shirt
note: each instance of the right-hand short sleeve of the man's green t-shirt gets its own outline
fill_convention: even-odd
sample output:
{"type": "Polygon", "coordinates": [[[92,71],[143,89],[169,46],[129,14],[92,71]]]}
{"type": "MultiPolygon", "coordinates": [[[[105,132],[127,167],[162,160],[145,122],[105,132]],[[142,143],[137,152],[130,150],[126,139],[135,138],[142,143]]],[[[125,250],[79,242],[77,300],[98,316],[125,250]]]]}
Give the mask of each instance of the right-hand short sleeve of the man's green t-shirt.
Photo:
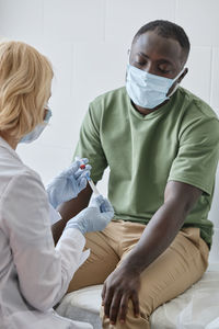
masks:
{"type": "Polygon", "coordinates": [[[219,157],[218,120],[194,120],[181,133],[178,143],[178,152],[168,180],[194,185],[210,195],[219,157]]]}

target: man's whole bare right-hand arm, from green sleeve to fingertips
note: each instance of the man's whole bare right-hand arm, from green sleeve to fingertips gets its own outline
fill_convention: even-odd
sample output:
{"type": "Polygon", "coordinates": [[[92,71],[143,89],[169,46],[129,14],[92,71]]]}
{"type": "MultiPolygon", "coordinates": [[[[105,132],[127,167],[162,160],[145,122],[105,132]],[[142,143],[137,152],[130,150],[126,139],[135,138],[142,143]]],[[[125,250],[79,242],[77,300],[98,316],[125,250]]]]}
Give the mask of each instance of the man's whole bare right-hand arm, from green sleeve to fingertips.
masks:
{"type": "Polygon", "coordinates": [[[139,316],[140,273],[171,245],[200,194],[199,189],[182,182],[166,184],[163,205],[147,225],[136,247],[104,282],[102,299],[111,324],[116,322],[118,315],[125,321],[129,299],[134,314],[139,316]]]}

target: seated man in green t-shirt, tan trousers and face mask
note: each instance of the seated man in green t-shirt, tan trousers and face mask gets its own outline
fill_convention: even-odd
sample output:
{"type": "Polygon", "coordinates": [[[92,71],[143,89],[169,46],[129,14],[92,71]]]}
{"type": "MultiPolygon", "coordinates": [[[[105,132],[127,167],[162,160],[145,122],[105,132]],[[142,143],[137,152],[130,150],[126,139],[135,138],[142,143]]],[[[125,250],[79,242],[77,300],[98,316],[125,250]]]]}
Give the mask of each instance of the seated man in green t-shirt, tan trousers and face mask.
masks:
{"type": "MultiPolygon", "coordinates": [[[[189,41],[168,21],[134,37],[126,88],[95,99],[76,155],[88,157],[92,179],[110,166],[114,220],[87,235],[91,257],[69,291],[104,283],[103,328],[150,328],[149,317],[201,277],[212,224],[207,219],[219,152],[212,110],[178,88],[187,73],[189,41]]],[[[87,188],[62,205],[62,223],[88,205],[87,188]]]]}

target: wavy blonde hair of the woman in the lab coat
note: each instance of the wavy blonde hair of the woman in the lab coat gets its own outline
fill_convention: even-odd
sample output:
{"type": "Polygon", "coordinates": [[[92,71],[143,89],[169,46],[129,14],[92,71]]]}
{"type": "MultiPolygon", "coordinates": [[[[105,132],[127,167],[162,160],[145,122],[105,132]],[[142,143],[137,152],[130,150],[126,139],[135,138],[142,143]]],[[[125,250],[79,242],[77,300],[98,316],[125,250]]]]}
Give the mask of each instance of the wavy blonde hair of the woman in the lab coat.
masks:
{"type": "Polygon", "coordinates": [[[44,121],[53,68],[22,42],[0,43],[0,133],[20,139],[44,121]]]}

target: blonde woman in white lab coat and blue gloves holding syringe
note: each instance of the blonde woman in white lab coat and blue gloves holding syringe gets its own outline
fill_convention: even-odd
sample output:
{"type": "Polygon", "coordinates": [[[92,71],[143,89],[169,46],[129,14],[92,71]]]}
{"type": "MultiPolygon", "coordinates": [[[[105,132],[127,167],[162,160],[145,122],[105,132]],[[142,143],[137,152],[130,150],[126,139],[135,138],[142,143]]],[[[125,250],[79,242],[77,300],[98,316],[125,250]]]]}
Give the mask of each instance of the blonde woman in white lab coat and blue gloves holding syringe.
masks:
{"type": "Polygon", "coordinates": [[[90,167],[81,170],[81,161],[73,162],[49,184],[47,195],[39,175],[15,152],[20,141],[39,136],[51,115],[51,79],[49,61],[36,49],[20,42],[0,44],[1,329],[91,328],[51,308],[82,261],[83,235],[103,229],[113,208],[102,196],[94,198],[91,207],[68,222],[55,248],[49,202],[56,207],[76,197],[85,188],[90,167]]]}

